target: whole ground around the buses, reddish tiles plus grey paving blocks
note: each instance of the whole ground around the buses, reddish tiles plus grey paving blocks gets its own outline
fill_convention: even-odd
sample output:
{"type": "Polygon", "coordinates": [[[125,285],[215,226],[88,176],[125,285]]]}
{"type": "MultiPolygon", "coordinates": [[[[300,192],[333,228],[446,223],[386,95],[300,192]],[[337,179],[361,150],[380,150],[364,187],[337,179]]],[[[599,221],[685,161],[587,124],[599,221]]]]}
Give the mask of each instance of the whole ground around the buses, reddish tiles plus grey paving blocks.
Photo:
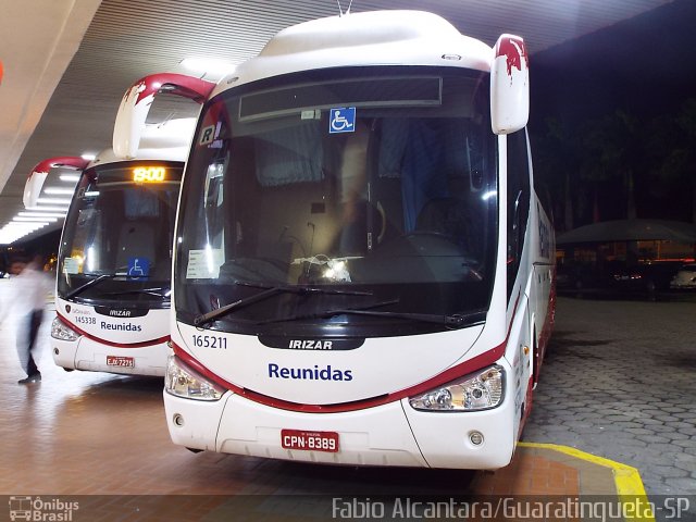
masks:
{"type": "MultiPolygon", "coordinates": [[[[44,380],[17,385],[24,375],[7,311],[5,303],[0,495],[9,496],[11,508],[18,496],[41,495],[77,498],[76,521],[306,520],[334,518],[332,501],[345,495],[617,494],[616,470],[545,448],[520,447],[512,464],[495,473],[191,453],[170,442],[160,378],[54,366],[48,349],[51,313],[39,350],[44,380]]],[[[651,496],[696,494],[695,312],[696,304],[686,302],[559,299],[524,440],[567,445],[635,467],[651,496]]],[[[696,499],[691,507],[696,509],[696,499]]]]}

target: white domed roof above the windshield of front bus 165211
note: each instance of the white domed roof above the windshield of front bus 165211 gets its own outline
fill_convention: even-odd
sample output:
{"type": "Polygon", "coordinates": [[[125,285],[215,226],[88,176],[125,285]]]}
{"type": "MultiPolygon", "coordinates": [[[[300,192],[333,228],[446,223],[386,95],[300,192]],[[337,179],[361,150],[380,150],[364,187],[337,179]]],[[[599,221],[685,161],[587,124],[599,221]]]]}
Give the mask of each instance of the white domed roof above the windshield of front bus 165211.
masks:
{"type": "Polygon", "coordinates": [[[423,11],[330,16],[281,30],[258,57],[223,78],[212,96],[245,83],[306,70],[360,65],[448,65],[489,71],[493,49],[423,11]]]}

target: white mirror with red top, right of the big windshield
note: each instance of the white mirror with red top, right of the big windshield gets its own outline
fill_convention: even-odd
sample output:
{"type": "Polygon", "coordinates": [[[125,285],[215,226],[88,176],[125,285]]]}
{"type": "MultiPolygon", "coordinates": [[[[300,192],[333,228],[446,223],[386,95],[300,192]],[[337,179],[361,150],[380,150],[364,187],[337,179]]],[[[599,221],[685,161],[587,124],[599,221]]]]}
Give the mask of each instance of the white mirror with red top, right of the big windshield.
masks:
{"type": "Polygon", "coordinates": [[[501,35],[490,64],[490,126],[495,134],[520,130],[530,119],[530,63],[524,40],[501,35]]]}

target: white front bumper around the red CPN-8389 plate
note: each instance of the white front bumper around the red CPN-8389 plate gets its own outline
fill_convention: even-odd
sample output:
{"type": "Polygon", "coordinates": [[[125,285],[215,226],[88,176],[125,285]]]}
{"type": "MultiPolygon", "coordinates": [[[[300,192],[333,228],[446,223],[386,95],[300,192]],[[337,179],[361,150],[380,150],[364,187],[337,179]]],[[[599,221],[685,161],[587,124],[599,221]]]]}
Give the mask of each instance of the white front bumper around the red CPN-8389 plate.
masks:
{"type": "Polygon", "coordinates": [[[164,391],[170,435],[192,448],[263,458],[349,465],[497,469],[515,444],[513,394],[497,408],[471,412],[413,410],[408,399],[339,413],[274,409],[227,391],[217,401],[164,391]],[[282,430],[338,433],[339,451],[285,449],[282,430]],[[475,445],[471,434],[483,442],[475,445]]]}

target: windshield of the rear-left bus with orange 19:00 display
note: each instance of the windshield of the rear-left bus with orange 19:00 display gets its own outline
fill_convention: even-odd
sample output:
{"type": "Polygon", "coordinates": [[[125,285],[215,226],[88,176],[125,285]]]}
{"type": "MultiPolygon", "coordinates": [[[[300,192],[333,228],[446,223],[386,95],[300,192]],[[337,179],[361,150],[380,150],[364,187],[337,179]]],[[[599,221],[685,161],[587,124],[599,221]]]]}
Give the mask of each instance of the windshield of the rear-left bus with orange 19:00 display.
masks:
{"type": "Polygon", "coordinates": [[[129,161],[86,170],[65,219],[58,297],[169,307],[183,164],[129,161]]]}

